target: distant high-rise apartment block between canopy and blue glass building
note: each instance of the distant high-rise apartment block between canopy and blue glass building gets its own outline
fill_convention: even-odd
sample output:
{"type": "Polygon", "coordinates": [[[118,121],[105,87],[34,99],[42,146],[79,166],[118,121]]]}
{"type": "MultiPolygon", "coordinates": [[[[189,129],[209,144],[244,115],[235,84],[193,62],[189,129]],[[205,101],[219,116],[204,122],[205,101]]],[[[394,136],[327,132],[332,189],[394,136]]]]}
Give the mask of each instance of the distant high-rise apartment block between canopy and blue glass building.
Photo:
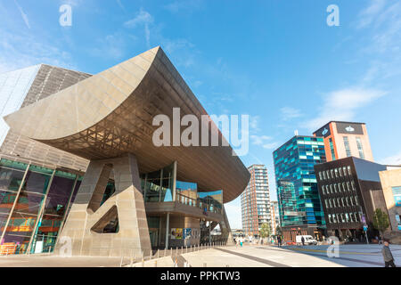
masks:
{"type": "Polygon", "coordinates": [[[250,183],[241,194],[242,230],[246,235],[258,235],[262,224],[271,223],[270,193],[267,168],[252,165],[250,183]]]}

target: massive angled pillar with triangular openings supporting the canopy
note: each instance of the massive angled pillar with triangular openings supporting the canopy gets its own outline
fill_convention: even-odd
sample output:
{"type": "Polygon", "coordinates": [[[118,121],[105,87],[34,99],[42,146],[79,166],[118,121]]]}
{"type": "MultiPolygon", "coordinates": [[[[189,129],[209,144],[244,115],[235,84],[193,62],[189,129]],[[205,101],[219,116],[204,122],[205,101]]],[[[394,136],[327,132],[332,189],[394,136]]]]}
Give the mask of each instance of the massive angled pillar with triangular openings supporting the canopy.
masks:
{"type": "Polygon", "coordinates": [[[70,240],[72,256],[147,256],[151,252],[143,191],[135,156],[91,160],[62,229],[55,253],[70,240]],[[104,190],[114,175],[116,191],[101,206],[104,190]],[[102,233],[118,218],[119,231],[102,233]]]}

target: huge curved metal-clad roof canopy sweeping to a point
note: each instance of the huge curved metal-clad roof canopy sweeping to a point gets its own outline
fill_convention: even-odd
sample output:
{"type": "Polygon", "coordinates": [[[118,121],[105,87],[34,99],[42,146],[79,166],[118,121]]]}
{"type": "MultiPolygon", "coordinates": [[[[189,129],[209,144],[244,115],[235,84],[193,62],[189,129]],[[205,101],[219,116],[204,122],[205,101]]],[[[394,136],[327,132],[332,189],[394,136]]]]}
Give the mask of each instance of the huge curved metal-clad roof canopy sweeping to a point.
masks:
{"type": "MultiPolygon", "coordinates": [[[[152,143],[153,131],[159,127],[152,126],[152,119],[165,114],[173,122],[175,107],[181,109],[181,117],[193,114],[201,121],[201,115],[207,115],[166,54],[156,47],[4,119],[20,134],[85,159],[132,152],[143,173],[176,160],[177,179],[196,182],[201,191],[222,189],[225,202],[238,197],[250,174],[241,159],[232,155],[231,147],[156,147],[152,143]]],[[[218,135],[221,145],[225,138],[218,135]]]]}

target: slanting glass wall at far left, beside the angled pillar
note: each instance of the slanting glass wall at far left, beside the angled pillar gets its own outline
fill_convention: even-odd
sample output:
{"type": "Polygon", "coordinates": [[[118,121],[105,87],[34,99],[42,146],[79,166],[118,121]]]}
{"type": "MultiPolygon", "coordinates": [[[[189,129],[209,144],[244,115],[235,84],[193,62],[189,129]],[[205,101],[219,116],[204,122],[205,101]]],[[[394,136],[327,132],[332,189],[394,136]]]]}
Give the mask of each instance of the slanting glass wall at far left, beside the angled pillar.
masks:
{"type": "Polygon", "coordinates": [[[0,160],[1,247],[9,254],[53,250],[73,192],[82,177],[0,160]]]}

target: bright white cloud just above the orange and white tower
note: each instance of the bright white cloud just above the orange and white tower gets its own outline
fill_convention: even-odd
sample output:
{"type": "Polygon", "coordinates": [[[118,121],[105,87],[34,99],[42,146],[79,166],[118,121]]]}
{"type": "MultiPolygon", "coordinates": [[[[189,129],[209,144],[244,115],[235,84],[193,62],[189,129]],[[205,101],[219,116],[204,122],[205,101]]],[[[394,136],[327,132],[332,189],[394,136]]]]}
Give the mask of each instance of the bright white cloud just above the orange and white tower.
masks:
{"type": "Polygon", "coordinates": [[[306,122],[312,130],[331,120],[353,120],[359,108],[383,96],[385,92],[361,87],[340,89],[326,94],[317,116],[306,122]]]}

